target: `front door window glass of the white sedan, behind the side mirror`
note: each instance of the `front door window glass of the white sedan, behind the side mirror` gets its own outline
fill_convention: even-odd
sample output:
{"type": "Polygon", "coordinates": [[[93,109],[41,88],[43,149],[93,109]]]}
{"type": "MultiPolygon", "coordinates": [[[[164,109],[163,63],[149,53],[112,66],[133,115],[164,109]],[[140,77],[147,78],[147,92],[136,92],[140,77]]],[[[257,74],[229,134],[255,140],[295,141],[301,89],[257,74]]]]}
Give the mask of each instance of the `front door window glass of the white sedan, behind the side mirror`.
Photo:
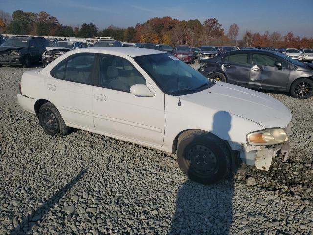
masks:
{"type": "Polygon", "coordinates": [[[128,60],[102,55],[100,58],[99,85],[113,90],[130,92],[135,84],[146,84],[146,80],[128,60]]]}

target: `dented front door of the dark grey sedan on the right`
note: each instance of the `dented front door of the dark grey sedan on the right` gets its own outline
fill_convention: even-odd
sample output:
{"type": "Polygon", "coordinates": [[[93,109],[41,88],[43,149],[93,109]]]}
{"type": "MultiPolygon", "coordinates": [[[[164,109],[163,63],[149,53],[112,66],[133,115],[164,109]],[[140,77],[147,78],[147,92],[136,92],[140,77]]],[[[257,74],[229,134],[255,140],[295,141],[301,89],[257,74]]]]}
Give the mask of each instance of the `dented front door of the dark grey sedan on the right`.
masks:
{"type": "Polygon", "coordinates": [[[289,81],[289,65],[285,61],[271,54],[252,53],[252,67],[250,79],[260,81],[262,89],[286,90],[289,81]],[[275,66],[275,62],[282,63],[282,68],[275,66]]]}

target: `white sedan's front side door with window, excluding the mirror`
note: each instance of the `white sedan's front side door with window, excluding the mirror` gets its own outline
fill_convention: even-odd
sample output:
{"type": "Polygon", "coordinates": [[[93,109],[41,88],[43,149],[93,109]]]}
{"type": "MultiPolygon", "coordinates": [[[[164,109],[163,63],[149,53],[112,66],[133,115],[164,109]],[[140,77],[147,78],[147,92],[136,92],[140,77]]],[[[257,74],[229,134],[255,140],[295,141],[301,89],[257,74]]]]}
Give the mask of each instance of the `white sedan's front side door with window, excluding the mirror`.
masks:
{"type": "Polygon", "coordinates": [[[125,58],[100,56],[99,79],[93,90],[95,129],[111,137],[162,146],[164,94],[156,93],[153,97],[131,94],[130,88],[135,84],[145,84],[154,91],[138,69],[125,58]]]}

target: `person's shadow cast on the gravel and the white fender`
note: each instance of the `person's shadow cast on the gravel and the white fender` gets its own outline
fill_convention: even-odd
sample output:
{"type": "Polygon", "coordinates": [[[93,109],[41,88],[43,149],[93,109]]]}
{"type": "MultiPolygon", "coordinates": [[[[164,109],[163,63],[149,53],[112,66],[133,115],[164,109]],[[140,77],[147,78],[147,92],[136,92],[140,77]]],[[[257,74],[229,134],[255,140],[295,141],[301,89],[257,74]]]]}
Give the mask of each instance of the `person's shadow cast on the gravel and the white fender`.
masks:
{"type": "MultiPolygon", "coordinates": [[[[231,116],[218,111],[213,119],[213,133],[229,137],[231,116]]],[[[202,185],[187,180],[176,196],[176,212],[170,235],[228,235],[232,225],[233,179],[215,185],[202,185]]]]}

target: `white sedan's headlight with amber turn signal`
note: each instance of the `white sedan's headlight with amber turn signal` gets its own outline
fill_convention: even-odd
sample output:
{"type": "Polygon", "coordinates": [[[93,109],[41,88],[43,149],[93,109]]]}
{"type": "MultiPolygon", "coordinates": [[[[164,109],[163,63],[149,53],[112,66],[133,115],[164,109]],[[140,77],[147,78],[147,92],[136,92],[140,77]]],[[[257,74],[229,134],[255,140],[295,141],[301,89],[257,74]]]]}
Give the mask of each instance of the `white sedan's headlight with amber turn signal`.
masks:
{"type": "Polygon", "coordinates": [[[275,145],[288,141],[288,136],[282,128],[272,128],[249,133],[246,139],[251,145],[275,145]]]}

